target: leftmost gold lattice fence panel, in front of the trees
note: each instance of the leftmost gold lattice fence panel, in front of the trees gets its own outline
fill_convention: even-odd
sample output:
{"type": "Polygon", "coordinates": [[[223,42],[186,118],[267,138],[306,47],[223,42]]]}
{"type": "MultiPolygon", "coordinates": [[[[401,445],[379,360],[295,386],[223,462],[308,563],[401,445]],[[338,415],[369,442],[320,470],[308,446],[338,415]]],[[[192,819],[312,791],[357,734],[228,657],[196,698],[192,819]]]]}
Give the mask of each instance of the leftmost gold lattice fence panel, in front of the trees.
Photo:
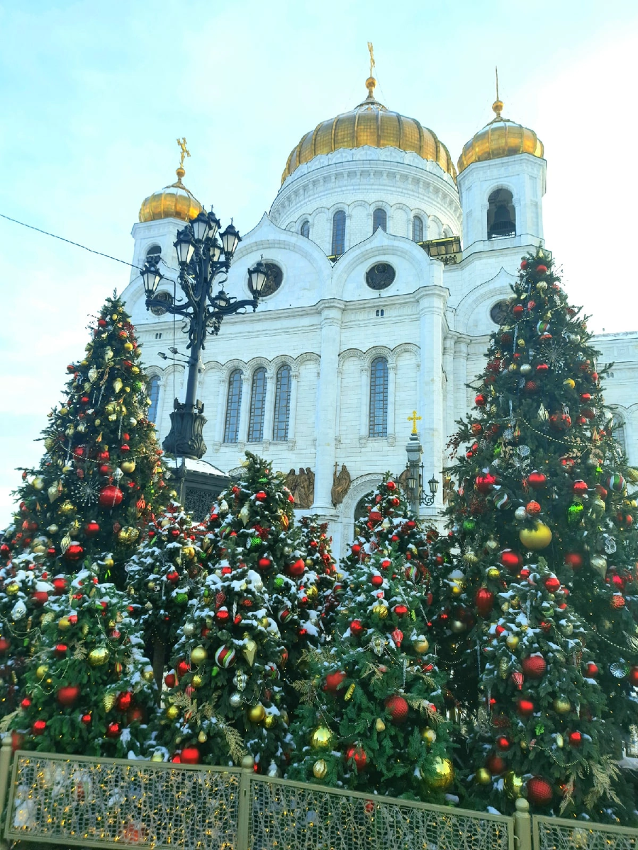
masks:
{"type": "Polygon", "coordinates": [[[16,755],[8,837],[83,847],[234,847],[239,773],[16,755]]]}

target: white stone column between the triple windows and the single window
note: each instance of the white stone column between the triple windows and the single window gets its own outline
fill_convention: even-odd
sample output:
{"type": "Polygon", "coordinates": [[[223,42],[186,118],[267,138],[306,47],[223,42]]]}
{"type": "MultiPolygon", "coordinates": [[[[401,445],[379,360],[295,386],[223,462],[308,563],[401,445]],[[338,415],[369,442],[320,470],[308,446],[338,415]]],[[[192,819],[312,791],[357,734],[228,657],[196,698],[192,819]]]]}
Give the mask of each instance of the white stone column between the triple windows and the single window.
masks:
{"type": "Polygon", "coordinates": [[[330,490],[333,486],[333,469],[336,459],[337,370],[344,303],[331,299],[321,304],[321,310],[321,360],[315,411],[315,501],[312,507],[319,513],[332,514],[334,508],[330,490]]]}

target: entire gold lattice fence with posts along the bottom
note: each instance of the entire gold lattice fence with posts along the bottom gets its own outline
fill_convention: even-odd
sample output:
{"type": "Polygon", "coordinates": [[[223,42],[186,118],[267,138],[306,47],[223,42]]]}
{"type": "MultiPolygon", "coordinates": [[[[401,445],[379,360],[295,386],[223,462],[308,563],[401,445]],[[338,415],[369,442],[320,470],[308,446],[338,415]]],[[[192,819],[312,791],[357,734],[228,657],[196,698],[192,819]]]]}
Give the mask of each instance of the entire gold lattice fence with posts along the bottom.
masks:
{"type": "Polygon", "coordinates": [[[4,837],[127,850],[638,850],[638,830],[474,812],[250,768],[0,751],[4,837]],[[9,775],[10,774],[10,775],[9,775]]]}

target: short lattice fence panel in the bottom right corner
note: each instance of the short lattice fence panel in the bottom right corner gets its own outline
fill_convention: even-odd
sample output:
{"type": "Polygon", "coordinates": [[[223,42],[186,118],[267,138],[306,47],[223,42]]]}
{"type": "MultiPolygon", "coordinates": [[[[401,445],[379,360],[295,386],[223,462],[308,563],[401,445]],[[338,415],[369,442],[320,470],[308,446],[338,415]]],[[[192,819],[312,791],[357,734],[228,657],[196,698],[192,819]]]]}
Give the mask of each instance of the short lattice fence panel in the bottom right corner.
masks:
{"type": "Polygon", "coordinates": [[[638,850],[638,830],[534,818],[534,850],[638,850]]]}

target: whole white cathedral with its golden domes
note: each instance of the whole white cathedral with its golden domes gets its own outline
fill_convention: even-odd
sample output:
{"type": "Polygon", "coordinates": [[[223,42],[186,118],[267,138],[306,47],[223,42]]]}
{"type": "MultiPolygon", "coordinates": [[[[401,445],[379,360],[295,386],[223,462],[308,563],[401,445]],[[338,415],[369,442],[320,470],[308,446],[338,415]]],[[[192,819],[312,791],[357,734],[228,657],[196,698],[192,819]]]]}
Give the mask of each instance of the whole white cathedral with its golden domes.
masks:
{"type": "MultiPolygon", "coordinates": [[[[266,294],[255,313],[226,318],[208,337],[197,391],[208,419],[204,460],[229,472],[251,450],[292,469],[299,508],[328,520],[337,555],[362,496],[385,471],[406,467],[413,422],[424,480],[441,482],[499,305],[521,257],[543,244],[543,144],[502,116],[499,99],[454,167],[435,133],[380,104],[372,76],[366,85],[361,104],[295,145],[270,212],[242,237],[225,290],[253,297],[248,269],[263,257],[266,294]]],[[[167,301],[177,230],[202,209],[183,167],[177,175],[145,199],[133,228],[134,266],[162,259],[167,301]]],[[[136,269],[123,297],[163,439],[174,396],[185,392],[185,365],[160,356],[174,345],[173,316],[146,310],[136,269]]],[[[178,320],[182,350],[183,339],[178,320]]],[[[638,333],[601,334],[594,344],[614,362],[606,400],[638,463],[638,333]]],[[[422,515],[436,519],[443,497],[439,486],[422,515]]]]}

